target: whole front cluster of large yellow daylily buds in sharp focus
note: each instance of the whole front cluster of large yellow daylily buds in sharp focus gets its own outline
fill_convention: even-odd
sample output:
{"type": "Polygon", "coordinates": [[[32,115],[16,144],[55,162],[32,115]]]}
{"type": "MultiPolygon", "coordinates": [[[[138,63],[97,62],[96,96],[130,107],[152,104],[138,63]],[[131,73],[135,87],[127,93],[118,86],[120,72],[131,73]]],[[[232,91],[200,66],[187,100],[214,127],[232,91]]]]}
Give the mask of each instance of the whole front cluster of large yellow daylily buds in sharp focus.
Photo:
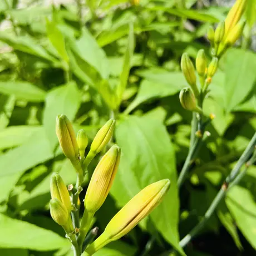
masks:
{"type": "MultiPolygon", "coordinates": [[[[91,159],[109,143],[114,127],[115,120],[107,121],[97,132],[92,141],[90,151],[85,156],[85,149],[88,145],[85,131],[79,130],[77,136],[75,136],[71,122],[65,115],[57,116],[56,120],[56,134],[63,153],[70,159],[71,163],[76,163],[73,165],[76,166],[77,172],[80,172],[83,162],[86,164],[90,163],[91,159]],[[77,168],[77,163],[80,164],[80,168],[77,168]]],[[[81,255],[83,252],[83,243],[86,241],[86,235],[91,228],[93,215],[100,209],[109,194],[119,167],[120,156],[120,147],[113,145],[97,164],[91,176],[85,199],[83,200],[85,211],[82,216],[80,229],[75,227],[76,221],[73,219],[75,217],[71,214],[79,210],[79,208],[75,207],[77,205],[73,201],[74,195],[79,191],[77,190],[78,188],[75,190],[75,194],[73,194],[73,186],[70,186],[72,189],[68,191],[60,174],[53,173],[51,176],[50,190],[52,199],[50,200],[50,213],[52,219],[65,230],[67,237],[70,238],[71,243],[77,249],[78,255],[81,255]]],[[[157,181],[141,190],[112,218],[104,233],[89,245],[82,255],[92,255],[107,243],[127,234],[160,203],[169,186],[170,181],[165,179],[157,181]]],[[[79,198],[77,198],[76,203],[77,201],[79,201],[79,198]]],[[[79,214],[77,218],[79,221],[79,214]]]]}

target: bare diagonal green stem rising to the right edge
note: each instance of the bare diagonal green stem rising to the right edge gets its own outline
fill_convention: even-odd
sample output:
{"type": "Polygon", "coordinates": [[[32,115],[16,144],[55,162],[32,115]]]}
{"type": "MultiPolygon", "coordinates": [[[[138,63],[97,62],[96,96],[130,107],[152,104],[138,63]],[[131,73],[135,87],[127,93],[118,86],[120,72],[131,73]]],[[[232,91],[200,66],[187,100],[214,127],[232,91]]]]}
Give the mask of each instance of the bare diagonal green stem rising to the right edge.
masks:
{"type": "Polygon", "coordinates": [[[242,156],[240,156],[238,163],[234,166],[231,173],[228,175],[228,177],[225,179],[223,186],[221,186],[221,189],[219,190],[218,194],[215,196],[213,202],[211,203],[210,207],[206,211],[203,219],[198,223],[198,225],[195,226],[191,230],[189,234],[187,234],[181,241],[180,246],[185,247],[194,237],[197,235],[200,230],[205,226],[205,223],[210,219],[211,215],[213,215],[215,209],[219,205],[220,201],[225,197],[227,194],[227,186],[230,185],[230,188],[233,186],[233,184],[238,184],[240,179],[243,178],[243,175],[245,174],[246,170],[248,169],[248,166],[253,163],[255,160],[255,152],[252,158],[249,160],[247,165],[245,166],[245,170],[242,172],[243,174],[238,175],[239,170],[242,168],[242,166],[248,161],[250,155],[254,151],[256,145],[256,132],[254,136],[252,137],[252,140],[250,140],[247,148],[244,150],[242,156]]]}

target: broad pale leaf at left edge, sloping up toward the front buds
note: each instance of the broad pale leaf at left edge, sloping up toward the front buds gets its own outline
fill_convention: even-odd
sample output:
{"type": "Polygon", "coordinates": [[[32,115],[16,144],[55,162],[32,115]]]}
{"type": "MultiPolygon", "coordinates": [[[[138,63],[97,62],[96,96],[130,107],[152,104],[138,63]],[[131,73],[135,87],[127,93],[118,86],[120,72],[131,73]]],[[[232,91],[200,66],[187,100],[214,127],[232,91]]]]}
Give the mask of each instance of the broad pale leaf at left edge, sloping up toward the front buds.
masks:
{"type": "Polygon", "coordinates": [[[0,202],[6,200],[19,177],[33,166],[53,157],[44,130],[39,130],[22,146],[0,155],[0,202]]]}

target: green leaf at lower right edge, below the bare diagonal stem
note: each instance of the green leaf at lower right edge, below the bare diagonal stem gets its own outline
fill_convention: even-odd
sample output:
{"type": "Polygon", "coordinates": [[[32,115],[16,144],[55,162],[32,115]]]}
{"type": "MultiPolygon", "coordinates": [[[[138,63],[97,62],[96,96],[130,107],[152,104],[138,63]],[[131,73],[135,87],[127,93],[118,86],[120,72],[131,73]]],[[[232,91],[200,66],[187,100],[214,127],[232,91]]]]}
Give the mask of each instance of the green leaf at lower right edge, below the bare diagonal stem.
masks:
{"type": "Polygon", "coordinates": [[[238,228],[256,249],[256,204],[253,195],[248,189],[234,186],[225,201],[238,228]]]}

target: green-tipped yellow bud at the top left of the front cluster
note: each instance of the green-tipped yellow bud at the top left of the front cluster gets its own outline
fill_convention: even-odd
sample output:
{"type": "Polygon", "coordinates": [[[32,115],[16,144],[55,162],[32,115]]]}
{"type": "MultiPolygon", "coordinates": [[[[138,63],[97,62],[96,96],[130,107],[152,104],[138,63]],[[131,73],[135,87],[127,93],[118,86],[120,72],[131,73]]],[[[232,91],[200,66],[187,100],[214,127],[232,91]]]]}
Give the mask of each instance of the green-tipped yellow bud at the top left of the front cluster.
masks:
{"type": "Polygon", "coordinates": [[[65,115],[58,115],[56,118],[56,134],[64,155],[71,161],[76,160],[78,156],[76,134],[65,115]]]}

